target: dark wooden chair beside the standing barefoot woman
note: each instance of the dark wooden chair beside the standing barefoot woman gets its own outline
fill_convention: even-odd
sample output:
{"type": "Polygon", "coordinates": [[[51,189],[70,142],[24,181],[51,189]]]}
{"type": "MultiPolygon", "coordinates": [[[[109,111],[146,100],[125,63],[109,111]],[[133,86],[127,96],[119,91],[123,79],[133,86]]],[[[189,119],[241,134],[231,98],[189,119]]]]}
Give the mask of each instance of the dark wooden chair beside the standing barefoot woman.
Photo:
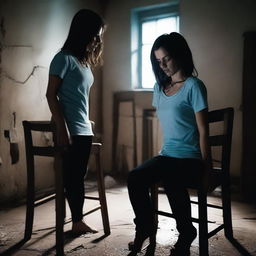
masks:
{"type": "MultiPolygon", "coordinates": [[[[64,219],[65,219],[65,196],[62,175],[62,161],[60,147],[55,144],[52,146],[35,146],[33,142],[33,131],[51,132],[53,141],[56,141],[55,127],[50,121],[23,121],[26,162],[27,162],[27,210],[24,240],[28,241],[32,235],[34,208],[53,198],[55,198],[56,207],[56,252],[57,255],[64,255],[64,219]],[[55,170],[55,193],[40,200],[35,200],[35,156],[54,157],[55,170]]],[[[99,197],[85,196],[86,199],[98,200],[100,205],[84,214],[88,215],[94,211],[101,210],[102,222],[105,235],[110,234],[107,202],[105,195],[105,186],[103,178],[103,170],[101,167],[101,143],[92,143],[91,154],[95,155],[96,173],[99,197]]]]}

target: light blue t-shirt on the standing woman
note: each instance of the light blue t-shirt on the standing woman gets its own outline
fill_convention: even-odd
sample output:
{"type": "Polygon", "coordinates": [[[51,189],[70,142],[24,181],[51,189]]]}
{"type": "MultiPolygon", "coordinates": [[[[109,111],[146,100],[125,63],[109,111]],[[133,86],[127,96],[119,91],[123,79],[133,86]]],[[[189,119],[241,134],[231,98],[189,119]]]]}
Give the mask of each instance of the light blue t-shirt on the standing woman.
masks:
{"type": "Polygon", "coordinates": [[[50,75],[62,79],[59,102],[71,135],[93,135],[89,120],[89,92],[93,74],[77,58],[64,51],[57,53],[50,64],[50,75]]]}

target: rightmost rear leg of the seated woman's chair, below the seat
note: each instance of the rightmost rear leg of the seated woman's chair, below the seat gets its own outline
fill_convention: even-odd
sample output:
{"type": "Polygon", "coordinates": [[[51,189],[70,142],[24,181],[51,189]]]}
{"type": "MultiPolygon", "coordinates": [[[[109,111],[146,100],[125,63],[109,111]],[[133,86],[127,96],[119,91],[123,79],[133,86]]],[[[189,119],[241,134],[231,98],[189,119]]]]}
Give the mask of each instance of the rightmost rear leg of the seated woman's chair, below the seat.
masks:
{"type": "Polygon", "coordinates": [[[222,188],[222,206],[224,234],[228,239],[233,238],[232,215],[231,215],[231,198],[229,185],[223,185],[222,188]]]}

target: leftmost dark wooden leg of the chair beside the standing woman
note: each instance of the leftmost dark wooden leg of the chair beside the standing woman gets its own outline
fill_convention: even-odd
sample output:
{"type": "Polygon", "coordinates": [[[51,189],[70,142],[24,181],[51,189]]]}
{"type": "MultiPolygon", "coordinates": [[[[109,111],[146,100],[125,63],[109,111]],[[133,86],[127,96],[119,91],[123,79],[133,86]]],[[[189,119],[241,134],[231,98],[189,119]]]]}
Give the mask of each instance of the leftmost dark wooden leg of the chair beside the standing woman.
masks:
{"type": "Polygon", "coordinates": [[[28,241],[32,235],[34,221],[34,203],[35,203],[35,167],[34,157],[27,158],[27,209],[24,240],[28,241]]]}

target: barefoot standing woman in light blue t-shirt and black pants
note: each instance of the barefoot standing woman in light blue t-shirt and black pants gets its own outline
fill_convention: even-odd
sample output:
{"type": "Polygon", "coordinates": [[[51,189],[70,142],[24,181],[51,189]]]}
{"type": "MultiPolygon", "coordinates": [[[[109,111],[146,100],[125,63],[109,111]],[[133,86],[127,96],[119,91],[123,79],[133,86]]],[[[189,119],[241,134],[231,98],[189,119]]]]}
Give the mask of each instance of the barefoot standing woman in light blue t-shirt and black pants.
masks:
{"type": "Polygon", "coordinates": [[[84,177],[93,136],[89,120],[91,67],[101,60],[104,26],[104,21],[95,12],[78,11],[49,71],[46,97],[56,125],[57,144],[65,147],[64,185],[75,235],[97,232],[83,221],[83,204],[84,177]]]}

